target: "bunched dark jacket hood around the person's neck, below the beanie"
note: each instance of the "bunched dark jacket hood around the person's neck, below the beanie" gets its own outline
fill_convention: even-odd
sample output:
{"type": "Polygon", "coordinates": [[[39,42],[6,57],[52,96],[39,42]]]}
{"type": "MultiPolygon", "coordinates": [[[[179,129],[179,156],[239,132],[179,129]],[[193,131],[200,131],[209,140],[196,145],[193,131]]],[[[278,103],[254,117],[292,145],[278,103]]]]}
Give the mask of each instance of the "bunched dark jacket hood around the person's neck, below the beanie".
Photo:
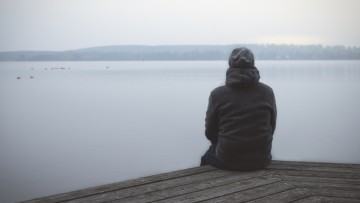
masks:
{"type": "Polygon", "coordinates": [[[225,84],[230,87],[247,86],[258,83],[260,74],[256,67],[232,68],[226,71],[225,84]]]}

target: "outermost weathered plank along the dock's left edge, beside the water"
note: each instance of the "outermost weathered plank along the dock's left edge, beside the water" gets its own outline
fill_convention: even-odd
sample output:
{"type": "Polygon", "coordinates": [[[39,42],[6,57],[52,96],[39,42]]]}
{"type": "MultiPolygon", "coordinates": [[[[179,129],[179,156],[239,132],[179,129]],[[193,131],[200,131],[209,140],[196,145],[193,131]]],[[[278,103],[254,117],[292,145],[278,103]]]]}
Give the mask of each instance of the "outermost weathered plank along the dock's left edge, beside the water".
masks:
{"type": "Polygon", "coordinates": [[[157,174],[157,175],[153,175],[153,176],[137,178],[134,180],[122,181],[122,182],[118,182],[118,183],[111,183],[111,184],[96,186],[96,187],[92,187],[92,188],[76,190],[76,191],[69,192],[69,193],[51,195],[48,197],[37,198],[37,199],[33,199],[33,200],[28,200],[25,202],[27,202],[27,203],[36,203],[36,202],[51,203],[51,202],[68,201],[68,200],[72,200],[72,199],[91,196],[94,194],[107,193],[110,191],[119,190],[119,189],[123,189],[123,188],[148,184],[148,183],[152,183],[152,182],[159,182],[159,181],[168,180],[168,179],[172,179],[172,178],[189,176],[192,174],[199,174],[199,173],[204,173],[204,172],[214,171],[214,170],[218,170],[218,169],[216,169],[213,166],[194,167],[194,168],[189,168],[189,169],[184,169],[184,170],[179,170],[179,171],[173,171],[173,172],[157,174]]]}

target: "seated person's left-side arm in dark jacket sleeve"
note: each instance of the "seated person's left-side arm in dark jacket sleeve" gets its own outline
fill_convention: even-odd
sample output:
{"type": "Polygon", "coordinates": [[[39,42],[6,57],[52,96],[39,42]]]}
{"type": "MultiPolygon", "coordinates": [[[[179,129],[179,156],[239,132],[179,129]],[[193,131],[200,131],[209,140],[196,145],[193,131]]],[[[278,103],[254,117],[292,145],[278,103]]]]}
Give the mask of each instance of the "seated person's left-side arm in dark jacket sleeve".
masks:
{"type": "Polygon", "coordinates": [[[210,94],[205,118],[205,135],[212,144],[216,144],[218,142],[219,118],[213,100],[213,95],[210,94]]]}

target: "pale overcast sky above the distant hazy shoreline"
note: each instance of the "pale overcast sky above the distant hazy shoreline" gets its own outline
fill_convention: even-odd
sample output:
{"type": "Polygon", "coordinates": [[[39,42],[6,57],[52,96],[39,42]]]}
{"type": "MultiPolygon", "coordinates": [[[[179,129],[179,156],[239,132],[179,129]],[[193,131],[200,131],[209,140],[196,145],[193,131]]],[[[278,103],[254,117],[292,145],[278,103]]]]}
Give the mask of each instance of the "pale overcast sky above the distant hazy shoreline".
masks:
{"type": "Polygon", "coordinates": [[[360,46],[360,0],[0,0],[0,51],[242,43],[360,46]]]}

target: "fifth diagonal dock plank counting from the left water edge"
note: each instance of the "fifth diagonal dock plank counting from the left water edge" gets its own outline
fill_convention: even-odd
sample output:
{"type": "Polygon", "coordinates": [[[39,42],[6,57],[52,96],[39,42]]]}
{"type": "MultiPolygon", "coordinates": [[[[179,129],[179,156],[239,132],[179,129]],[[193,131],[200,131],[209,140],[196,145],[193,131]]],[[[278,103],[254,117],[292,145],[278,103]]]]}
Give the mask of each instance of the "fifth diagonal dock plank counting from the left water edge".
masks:
{"type": "Polygon", "coordinates": [[[266,197],[272,194],[284,192],[287,190],[294,189],[295,186],[287,184],[283,181],[272,183],[268,185],[263,185],[260,187],[252,188],[249,190],[244,190],[228,195],[223,195],[214,199],[209,199],[204,201],[205,203],[233,203],[233,202],[246,202],[254,199],[259,199],[261,197],[266,197]]]}

